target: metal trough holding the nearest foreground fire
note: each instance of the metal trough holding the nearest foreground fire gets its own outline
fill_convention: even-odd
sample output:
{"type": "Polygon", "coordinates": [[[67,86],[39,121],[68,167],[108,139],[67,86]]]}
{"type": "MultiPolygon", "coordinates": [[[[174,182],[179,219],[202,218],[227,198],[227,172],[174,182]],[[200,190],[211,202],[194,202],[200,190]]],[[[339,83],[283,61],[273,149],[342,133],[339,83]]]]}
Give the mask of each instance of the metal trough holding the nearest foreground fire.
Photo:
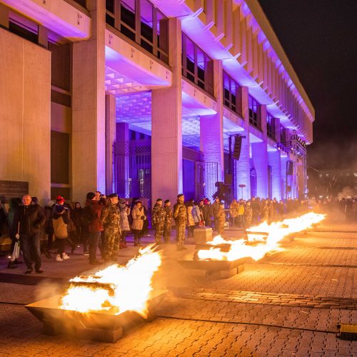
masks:
{"type": "Polygon", "coordinates": [[[156,318],[156,306],[161,303],[165,294],[166,291],[151,293],[146,318],[142,318],[135,311],[115,314],[107,311],[80,313],[63,310],[58,308],[61,298],[59,295],[30,303],[25,307],[43,323],[43,332],[47,335],[66,333],[76,338],[114,343],[129,328],[139,326],[144,321],[153,321],[156,318]]]}

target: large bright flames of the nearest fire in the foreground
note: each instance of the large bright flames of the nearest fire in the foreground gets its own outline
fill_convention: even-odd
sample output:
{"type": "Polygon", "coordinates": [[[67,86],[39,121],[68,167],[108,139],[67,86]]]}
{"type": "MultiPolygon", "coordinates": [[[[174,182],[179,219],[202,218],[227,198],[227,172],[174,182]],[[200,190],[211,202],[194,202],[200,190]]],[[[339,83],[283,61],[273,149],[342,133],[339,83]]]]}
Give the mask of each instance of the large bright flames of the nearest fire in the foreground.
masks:
{"type": "Polygon", "coordinates": [[[147,246],[126,266],[114,264],[91,276],[76,276],[61,298],[64,310],[113,314],[136,311],[147,316],[151,278],[161,266],[161,254],[147,246]]]}

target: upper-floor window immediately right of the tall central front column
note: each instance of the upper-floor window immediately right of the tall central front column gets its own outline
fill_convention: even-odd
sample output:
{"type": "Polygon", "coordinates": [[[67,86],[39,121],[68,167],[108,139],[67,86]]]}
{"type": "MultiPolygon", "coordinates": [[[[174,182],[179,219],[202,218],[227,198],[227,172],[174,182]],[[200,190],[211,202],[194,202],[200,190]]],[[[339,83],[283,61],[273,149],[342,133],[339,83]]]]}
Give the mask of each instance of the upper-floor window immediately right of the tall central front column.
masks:
{"type": "Polygon", "coordinates": [[[182,75],[213,96],[213,60],[183,33],[182,75]]]}

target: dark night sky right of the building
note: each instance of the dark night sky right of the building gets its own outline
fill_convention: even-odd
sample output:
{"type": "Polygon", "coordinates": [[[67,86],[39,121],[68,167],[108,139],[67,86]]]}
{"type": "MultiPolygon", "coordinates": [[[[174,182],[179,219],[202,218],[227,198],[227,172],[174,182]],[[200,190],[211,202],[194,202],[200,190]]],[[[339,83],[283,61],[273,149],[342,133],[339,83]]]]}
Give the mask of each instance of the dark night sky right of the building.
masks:
{"type": "Polygon", "coordinates": [[[308,166],[357,169],[357,0],[258,0],[316,111],[308,166]]]}

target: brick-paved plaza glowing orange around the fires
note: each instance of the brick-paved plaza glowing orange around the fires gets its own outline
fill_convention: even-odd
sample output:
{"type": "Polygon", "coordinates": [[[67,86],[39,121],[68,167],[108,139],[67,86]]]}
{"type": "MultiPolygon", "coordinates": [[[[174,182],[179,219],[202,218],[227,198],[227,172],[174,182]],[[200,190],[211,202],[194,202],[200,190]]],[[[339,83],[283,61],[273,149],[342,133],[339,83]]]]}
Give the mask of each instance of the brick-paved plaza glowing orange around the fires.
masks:
{"type": "MultiPolygon", "coordinates": [[[[357,356],[357,341],[336,337],[338,323],[357,324],[357,225],[321,224],[223,280],[181,268],[177,259],[194,249],[187,243],[187,252],[164,246],[154,283],[169,293],[158,318],[116,343],[43,335],[24,308],[86,271],[86,256],[43,258],[44,276],[6,269],[1,258],[0,356],[357,356]]],[[[136,253],[130,245],[120,263],[136,253]]]]}

